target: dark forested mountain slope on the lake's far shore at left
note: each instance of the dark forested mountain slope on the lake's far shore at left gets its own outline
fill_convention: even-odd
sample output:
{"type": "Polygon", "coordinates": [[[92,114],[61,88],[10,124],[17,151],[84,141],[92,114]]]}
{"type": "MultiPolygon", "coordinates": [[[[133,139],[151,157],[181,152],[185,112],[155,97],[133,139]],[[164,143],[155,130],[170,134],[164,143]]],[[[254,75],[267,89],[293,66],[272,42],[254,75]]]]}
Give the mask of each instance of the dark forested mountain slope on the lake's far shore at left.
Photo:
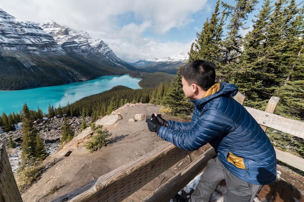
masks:
{"type": "Polygon", "coordinates": [[[36,57],[33,59],[35,64],[26,66],[17,58],[4,57],[0,54],[0,89],[22,90],[63,85],[131,72],[126,69],[106,67],[72,54],[48,57],[52,63],[36,57]]]}

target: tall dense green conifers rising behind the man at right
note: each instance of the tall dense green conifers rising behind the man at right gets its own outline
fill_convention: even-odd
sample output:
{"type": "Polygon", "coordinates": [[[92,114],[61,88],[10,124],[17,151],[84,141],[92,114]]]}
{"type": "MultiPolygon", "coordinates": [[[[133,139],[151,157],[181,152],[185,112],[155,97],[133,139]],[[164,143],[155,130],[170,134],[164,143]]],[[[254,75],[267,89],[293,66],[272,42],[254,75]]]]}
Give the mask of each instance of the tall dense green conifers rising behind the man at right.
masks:
{"type": "Polygon", "coordinates": [[[304,120],[304,5],[295,0],[264,0],[246,35],[248,14],[256,1],[220,4],[197,33],[189,61],[217,65],[217,81],[236,84],[245,105],[265,109],[280,97],[276,113],[304,120]],[[247,24],[246,24],[247,23],[247,24]],[[224,30],[225,28],[225,30],[224,30]]]}

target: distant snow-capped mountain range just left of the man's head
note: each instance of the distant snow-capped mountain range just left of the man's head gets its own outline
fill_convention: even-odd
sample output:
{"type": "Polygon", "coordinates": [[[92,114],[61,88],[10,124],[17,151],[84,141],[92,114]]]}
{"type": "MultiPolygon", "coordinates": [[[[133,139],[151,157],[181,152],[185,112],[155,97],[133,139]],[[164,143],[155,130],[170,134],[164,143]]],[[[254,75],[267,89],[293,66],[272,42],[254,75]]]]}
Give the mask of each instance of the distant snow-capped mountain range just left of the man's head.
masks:
{"type": "Polygon", "coordinates": [[[145,69],[148,72],[166,72],[169,74],[176,74],[178,68],[183,66],[189,57],[186,52],[182,52],[179,55],[166,57],[162,59],[146,59],[139,60],[137,62],[131,63],[138,69],[145,69]]]}

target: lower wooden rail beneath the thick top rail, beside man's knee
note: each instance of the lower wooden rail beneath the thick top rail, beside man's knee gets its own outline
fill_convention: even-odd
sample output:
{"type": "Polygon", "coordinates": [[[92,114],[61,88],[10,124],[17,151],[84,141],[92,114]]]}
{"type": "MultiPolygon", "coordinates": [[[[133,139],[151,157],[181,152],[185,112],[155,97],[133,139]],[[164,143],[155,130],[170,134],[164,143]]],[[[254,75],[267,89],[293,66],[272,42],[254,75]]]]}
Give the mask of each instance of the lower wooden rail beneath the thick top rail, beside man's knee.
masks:
{"type": "Polygon", "coordinates": [[[214,148],[211,147],[182,171],[175,174],[164,185],[152,192],[143,202],[169,202],[177,192],[182,190],[195,176],[203,171],[208,160],[215,155],[214,148]]]}

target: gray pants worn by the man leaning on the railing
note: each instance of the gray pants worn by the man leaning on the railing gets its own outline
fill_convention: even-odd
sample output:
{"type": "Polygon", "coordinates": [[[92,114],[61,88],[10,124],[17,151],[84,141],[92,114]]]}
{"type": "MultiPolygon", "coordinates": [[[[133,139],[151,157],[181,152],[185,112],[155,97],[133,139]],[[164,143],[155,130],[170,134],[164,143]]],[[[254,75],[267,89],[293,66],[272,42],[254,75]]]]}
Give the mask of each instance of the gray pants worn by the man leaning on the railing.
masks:
{"type": "Polygon", "coordinates": [[[224,167],[218,157],[215,157],[208,161],[206,170],[201,175],[189,202],[209,202],[212,193],[223,179],[227,185],[224,202],[253,202],[255,195],[262,187],[238,179],[224,167]]]}

